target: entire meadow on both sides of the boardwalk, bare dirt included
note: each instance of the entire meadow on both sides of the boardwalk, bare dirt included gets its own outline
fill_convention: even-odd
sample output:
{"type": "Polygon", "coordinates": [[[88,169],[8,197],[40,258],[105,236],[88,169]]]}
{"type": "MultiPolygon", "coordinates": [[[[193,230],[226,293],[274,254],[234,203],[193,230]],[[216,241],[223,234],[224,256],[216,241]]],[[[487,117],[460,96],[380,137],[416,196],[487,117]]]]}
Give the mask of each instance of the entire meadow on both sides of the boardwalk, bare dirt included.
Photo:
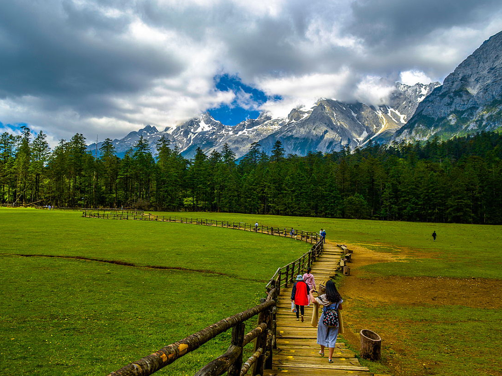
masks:
{"type": "MultiPolygon", "coordinates": [[[[357,249],[354,274],[342,280],[344,317],[353,333],[346,337],[355,344],[356,333],[370,328],[384,338],[382,365],[369,364],[375,371],[502,375],[499,226],[159,214],[324,228],[328,240],[357,249]]],[[[253,305],[263,296],[263,281],[309,247],[228,229],[57,211],[0,209],[0,231],[6,302],[0,307],[0,363],[15,367],[6,374],[104,374],[253,305]],[[86,256],[140,267],[12,254],[86,256]]],[[[169,373],[193,374],[226,348],[229,333],[222,336],[220,348],[205,346],[167,367],[169,373]]]]}

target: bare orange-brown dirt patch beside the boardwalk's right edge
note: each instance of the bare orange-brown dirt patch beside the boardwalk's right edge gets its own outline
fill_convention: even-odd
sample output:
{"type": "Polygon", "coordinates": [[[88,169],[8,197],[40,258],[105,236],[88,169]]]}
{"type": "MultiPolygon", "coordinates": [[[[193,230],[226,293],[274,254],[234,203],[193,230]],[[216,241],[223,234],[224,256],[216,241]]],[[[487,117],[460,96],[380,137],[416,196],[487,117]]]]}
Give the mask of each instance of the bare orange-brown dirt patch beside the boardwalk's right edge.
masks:
{"type": "MultiPolygon", "coordinates": [[[[419,343],[407,340],[417,330],[413,322],[398,319],[368,320],[358,317],[358,307],[372,307],[386,304],[395,306],[461,305],[472,308],[500,309],[502,281],[490,279],[455,279],[429,277],[371,277],[360,268],[383,262],[396,262],[412,258],[431,258],[430,254],[402,249],[399,252],[383,252],[385,245],[347,245],[353,250],[351,275],[342,281],[340,293],[347,297],[343,318],[346,327],[343,337],[358,349],[359,331],[370,329],[383,337],[382,363],[394,375],[422,376],[441,374],[434,359],[418,358],[419,343]],[[380,248],[381,247],[381,248],[380,248]],[[438,373],[439,372],[439,373],[438,373]]],[[[474,355],[474,354],[473,354],[474,355]]],[[[490,369],[493,375],[502,374],[490,369]]]]}

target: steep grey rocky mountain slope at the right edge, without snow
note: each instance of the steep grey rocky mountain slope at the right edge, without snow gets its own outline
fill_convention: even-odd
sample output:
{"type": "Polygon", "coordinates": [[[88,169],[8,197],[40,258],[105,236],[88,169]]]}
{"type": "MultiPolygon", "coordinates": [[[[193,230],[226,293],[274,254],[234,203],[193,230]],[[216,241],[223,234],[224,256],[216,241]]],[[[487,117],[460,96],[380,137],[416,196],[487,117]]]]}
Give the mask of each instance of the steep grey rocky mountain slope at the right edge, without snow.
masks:
{"type": "Polygon", "coordinates": [[[502,32],[485,41],[418,106],[397,140],[451,138],[502,124],[502,32]]]}

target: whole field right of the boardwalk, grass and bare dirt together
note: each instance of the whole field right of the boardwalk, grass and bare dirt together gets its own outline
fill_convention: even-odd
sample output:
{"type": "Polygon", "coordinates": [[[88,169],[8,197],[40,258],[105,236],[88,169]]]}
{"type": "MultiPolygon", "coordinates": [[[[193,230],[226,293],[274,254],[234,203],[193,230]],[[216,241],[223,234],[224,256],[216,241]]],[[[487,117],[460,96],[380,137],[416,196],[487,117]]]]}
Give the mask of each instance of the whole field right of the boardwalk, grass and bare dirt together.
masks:
{"type": "Polygon", "coordinates": [[[354,273],[341,281],[349,329],[345,337],[354,348],[363,328],[383,337],[382,362],[363,362],[374,372],[502,375],[500,226],[183,215],[324,228],[328,240],[357,249],[354,273]]]}

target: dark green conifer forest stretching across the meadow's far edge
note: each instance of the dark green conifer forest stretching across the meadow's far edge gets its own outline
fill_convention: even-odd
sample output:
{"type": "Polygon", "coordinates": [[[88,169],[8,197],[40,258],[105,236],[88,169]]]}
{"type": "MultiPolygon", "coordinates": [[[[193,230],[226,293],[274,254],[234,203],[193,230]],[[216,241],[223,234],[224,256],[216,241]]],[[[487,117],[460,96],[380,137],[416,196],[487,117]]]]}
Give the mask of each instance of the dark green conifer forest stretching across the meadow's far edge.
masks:
{"type": "Polygon", "coordinates": [[[82,134],[51,150],[43,132],[22,131],[0,135],[3,204],[502,223],[502,136],[493,132],[305,157],[255,143],[237,163],[226,144],[189,160],[165,139],[154,157],[140,138],[119,158],[106,139],[96,158],[82,134]]]}

